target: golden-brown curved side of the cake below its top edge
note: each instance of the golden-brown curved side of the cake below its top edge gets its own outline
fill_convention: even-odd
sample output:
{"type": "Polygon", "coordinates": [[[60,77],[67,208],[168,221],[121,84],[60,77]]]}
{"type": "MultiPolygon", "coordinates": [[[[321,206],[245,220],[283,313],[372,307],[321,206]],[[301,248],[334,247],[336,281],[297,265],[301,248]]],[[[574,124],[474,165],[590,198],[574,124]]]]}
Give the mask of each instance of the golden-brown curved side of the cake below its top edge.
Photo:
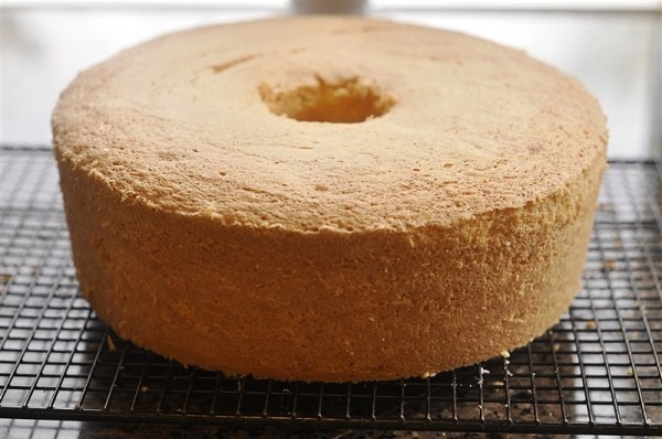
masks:
{"type": "Polygon", "coordinates": [[[227,374],[354,382],[469,365],[556,322],[605,159],[523,208],[354,234],[227,227],[58,164],[83,295],[120,336],[227,374]]]}

